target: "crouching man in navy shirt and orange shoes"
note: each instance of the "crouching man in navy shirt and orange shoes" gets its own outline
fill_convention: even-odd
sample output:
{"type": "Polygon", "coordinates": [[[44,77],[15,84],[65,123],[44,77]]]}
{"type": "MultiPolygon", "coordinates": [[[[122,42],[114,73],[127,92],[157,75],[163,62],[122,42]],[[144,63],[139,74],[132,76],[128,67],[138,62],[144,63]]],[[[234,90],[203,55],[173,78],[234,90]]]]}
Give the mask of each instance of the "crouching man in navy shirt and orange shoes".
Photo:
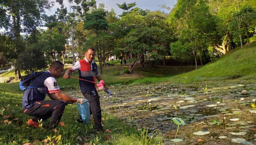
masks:
{"type": "Polygon", "coordinates": [[[55,128],[62,117],[65,105],[68,103],[83,103],[83,99],[70,97],[60,91],[54,77],[60,77],[64,69],[63,63],[55,61],[48,71],[36,77],[25,90],[22,98],[22,109],[29,116],[29,126],[39,127],[38,120],[46,120],[51,117],[47,129],[55,128]],[[46,93],[52,100],[44,100],[46,93]]]}

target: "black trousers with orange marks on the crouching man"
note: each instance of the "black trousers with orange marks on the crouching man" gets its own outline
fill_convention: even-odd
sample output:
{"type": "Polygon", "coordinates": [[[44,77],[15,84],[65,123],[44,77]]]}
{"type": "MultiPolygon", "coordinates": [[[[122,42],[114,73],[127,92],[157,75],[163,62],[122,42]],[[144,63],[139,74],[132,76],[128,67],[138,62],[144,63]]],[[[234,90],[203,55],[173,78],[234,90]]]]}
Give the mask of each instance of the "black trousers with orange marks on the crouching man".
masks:
{"type": "Polygon", "coordinates": [[[65,104],[59,100],[43,100],[37,101],[35,105],[24,110],[29,116],[34,116],[33,121],[47,120],[51,117],[49,129],[55,128],[62,117],[65,104]]]}

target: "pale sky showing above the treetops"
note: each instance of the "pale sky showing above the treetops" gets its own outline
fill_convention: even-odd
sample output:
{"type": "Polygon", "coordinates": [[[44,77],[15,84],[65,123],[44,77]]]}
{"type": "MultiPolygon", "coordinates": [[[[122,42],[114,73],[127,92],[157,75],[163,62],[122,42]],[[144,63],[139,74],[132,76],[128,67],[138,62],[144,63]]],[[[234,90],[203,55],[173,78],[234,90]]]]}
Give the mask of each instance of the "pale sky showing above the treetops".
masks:
{"type": "MultiPolygon", "coordinates": [[[[166,13],[169,13],[168,10],[162,9],[159,5],[165,4],[167,7],[170,7],[172,9],[174,4],[176,4],[177,0],[124,0],[124,1],[122,1],[122,0],[121,1],[120,0],[96,0],[97,5],[103,3],[103,4],[105,4],[105,7],[108,11],[110,11],[111,8],[113,8],[117,15],[122,14],[123,10],[120,9],[116,4],[123,4],[124,2],[126,2],[126,4],[136,2],[135,7],[139,7],[143,10],[146,10],[146,9],[148,9],[150,11],[161,10],[161,11],[165,11],[166,13]]],[[[69,10],[70,6],[69,6],[67,0],[64,0],[64,4],[65,4],[65,7],[67,7],[69,10]]],[[[46,14],[53,15],[55,13],[55,11],[57,10],[57,8],[60,8],[60,5],[55,3],[54,6],[52,7],[51,11],[46,10],[46,14]]]]}

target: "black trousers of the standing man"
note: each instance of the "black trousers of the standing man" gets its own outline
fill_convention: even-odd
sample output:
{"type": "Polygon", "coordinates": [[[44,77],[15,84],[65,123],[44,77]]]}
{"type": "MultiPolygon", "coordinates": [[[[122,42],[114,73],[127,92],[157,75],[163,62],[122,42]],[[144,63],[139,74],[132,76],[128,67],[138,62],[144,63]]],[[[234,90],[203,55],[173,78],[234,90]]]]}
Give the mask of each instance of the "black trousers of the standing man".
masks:
{"type": "Polygon", "coordinates": [[[94,129],[102,130],[101,125],[101,109],[100,109],[100,98],[97,91],[86,91],[83,93],[84,97],[88,100],[90,105],[90,114],[93,116],[94,129]]]}

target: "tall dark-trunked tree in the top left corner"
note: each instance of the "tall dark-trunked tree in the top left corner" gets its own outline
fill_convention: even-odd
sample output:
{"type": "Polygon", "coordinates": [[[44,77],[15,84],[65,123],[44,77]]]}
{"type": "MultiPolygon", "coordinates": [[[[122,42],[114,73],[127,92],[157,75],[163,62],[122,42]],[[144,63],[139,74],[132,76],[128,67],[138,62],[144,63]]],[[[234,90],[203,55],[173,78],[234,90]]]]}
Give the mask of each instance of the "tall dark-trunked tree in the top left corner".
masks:
{"type": "MultiPolygon", "coordinates": [[[[1,28],[5,28],[14,40],[14,54],[18,55],[24,49],[21,32],[31,33],[40,24],[40,14],[45,9],[51,8],[52,3],[48,0],[5,0],[1,1],[0,19],[1,28]]],[[[20,69],[15,68],[16,80],[21,77],[20,69]]]]}

